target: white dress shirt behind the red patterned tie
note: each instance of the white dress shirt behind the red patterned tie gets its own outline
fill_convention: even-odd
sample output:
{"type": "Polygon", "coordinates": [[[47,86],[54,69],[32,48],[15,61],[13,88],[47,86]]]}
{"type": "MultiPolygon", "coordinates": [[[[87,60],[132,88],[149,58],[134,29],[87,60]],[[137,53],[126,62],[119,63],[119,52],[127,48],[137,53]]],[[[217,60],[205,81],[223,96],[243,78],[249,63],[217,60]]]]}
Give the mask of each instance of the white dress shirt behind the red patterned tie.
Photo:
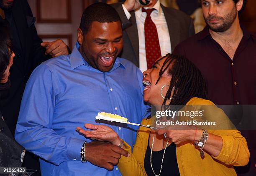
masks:
{"type": "MultiPolygon", "coordinates": [[[[122,6],[123,6],[123,10],[125,12],[126,17],[129,20],[131,18],[131,14],[128,12],[128,10],[125,8],[124,5],[122,6]]],[[[144,7],[144,8],[148,9],[147,7],[144,7]]],[[[161,55],[164,56],[167,53],[172,52],[169,30],[168,30],[168,26],[164,17],[164,12],[160,6],[159,0],[156,2],[153,8],[155,8],[156,10],[154,10],[150,16],[152,21],[156,25],[159,44],[161,48],[161,55]]],[[[141,8],[135,11],[135,18],[136,18],[138,38],[139,38],[140,70],[142,72],[148,69],[147,60],[146,60],[145,33],[144,33],[144,23],[145,23],[146,16],[147,16],[146,12],[142,12],[141,8]]]]}

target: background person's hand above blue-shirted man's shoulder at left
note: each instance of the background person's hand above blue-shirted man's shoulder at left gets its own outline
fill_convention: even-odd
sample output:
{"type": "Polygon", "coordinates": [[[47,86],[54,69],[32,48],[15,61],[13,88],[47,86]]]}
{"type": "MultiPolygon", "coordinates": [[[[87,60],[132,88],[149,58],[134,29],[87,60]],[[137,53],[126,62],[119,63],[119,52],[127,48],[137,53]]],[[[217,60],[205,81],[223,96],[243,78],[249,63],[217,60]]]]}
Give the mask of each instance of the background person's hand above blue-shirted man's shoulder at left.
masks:
{"type": "Polygon", "coordinates": [[[60,55],[68,55],[68,47],[64,41],[58,39],[53,42],[43,42],[41,46],[46,48],[45,54],[51,55],[53,58],[60,55]]]}

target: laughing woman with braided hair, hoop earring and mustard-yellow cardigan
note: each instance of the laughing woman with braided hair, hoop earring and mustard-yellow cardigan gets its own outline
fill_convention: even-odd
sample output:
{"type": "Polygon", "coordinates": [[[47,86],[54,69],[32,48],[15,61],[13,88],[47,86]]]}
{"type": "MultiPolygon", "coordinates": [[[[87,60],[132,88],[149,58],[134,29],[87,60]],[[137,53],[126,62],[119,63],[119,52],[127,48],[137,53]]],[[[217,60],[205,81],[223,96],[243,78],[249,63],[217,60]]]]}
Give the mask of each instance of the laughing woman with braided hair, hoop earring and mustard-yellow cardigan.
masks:
{"type": "MultiPolygon", "coordinates": [[[[172,105],[175,108],[177,105],[211,105],[213,118],[228,118],[206,100],[206,85],[200,71],[182,56],[167,54],[156,60],[151,69],[143,72],[143,85],[144,101],[160,105],[156,106],[157,111],[172,105]]],[[[143,119],[141,124],[154,125],[155,122],[156,117],[152,116],[143,119]]],[[[244,166],[249,159],[246,139],[236,129],[207,131],[190,125],[183,125],[182,129],[140,127],[132,152],[131,146],[110,127],[92,124],[85,124],[85,127],[93,131],[79,127],[77,131],[85,137],[118,145],[130,153],[129,157],[119,159],[118,168],[123,176],[231,176],[236,175],[233,166],[244,166]]]]}

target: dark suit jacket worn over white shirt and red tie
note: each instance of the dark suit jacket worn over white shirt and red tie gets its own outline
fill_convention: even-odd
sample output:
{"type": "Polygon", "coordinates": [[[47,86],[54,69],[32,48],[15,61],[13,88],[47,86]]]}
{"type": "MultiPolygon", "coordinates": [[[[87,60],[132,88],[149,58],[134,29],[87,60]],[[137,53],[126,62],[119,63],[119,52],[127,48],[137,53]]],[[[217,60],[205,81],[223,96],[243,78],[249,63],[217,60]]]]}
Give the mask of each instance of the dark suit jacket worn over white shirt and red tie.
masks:
{"type": "MultiPolygon", "coordinates": [[[[123,11],[122,4],[123,3],[112,4],[115,10],[117,10],[123,25],[123,51],[119,56],[130,60],[139,67],[139,39],[135,13],[131,11],[131,18],[128,20],[123,11]]],[[[179,10],[166,8],[164,5],[161,5],[161,8],[163,9],[168,25],[173,51],[176,45],[195,34],[193,20],[179,10]]]]}

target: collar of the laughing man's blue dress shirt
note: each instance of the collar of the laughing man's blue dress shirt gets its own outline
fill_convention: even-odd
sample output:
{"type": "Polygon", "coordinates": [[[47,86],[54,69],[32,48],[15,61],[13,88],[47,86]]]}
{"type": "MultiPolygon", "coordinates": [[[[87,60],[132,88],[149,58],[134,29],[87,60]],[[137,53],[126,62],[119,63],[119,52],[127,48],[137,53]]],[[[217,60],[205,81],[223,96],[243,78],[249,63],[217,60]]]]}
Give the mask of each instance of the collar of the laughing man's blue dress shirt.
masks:
{"type": "MultiPolygon", "coordinates": [[[[80,45],[78,42],[76,42],[76,44],[74,45],[74,49],[72,50],[72,53],[70,54],[69,58],[70,58],[70,67],[72,70],[74,70],[75,68],[81,66],[81,65],[86,65],[88,67],[93,68],[89,63],[87,63],[83,56],[81,55],[81,53],[79,52],[79,48],[80,45]]],[[[124,63],[122,62],[122,60],[120,60],[120,58],[116,58],[115,63],[113,65],[113,68],[109,71],[113,71],[116,68],[118,68],[120,65],[122,65],[123,68],[125,68],[124,63]]]]}

